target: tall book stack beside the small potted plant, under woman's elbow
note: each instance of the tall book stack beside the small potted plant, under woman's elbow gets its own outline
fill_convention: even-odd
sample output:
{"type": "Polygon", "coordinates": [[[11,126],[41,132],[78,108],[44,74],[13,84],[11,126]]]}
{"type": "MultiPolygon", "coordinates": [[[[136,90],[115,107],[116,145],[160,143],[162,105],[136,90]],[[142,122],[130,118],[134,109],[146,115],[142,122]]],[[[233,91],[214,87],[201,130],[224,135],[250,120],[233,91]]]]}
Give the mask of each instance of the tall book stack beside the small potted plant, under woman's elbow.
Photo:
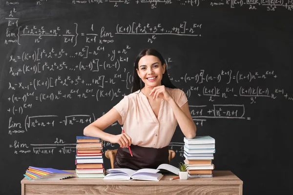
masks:
{"type": "Polygon", "coordinates": [[[210,136],[184,137],[185,164],[189,177],[212,177],[215,139],[210,136]]]}

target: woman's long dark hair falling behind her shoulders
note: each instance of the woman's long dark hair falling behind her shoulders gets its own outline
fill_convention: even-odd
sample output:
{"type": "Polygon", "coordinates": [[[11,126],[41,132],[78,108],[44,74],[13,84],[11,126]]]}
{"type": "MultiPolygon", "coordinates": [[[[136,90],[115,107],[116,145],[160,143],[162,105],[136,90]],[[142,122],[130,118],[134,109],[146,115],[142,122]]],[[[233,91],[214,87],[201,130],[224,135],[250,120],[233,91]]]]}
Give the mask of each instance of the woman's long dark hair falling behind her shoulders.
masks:
{"type": "MultiPolygon", "coordinates": [[[[157,50],[144,49],[143,51],[141,51],[137,55],[137,57],[135,59],[135,62],[134,62],[133,86],[132,86],[132,89],[131,89],[131,93],[136,92],[137,90],[141,90],[145,86],[145,83],[142,81],[141,78],[139,78],[139,76],[138,76],[138,74],[136,72],[136,69],[138,70],[138,62],[139,62],[139,60],[142,57],[146,56],[146,55],[155,56],[158,59],[160,59],[162,66],[163,66],[163,64],[165,64],[165,60],[164,60],[163,56],[157,50]]],[[[161,85],[164,85],[165,87],[172,88],[172,89],[176,88],[170,81],[170,78],[169,78],[168,72],[167,72],[167,66],[166,66],[165,73],[163,74],[161,85]]]]}

